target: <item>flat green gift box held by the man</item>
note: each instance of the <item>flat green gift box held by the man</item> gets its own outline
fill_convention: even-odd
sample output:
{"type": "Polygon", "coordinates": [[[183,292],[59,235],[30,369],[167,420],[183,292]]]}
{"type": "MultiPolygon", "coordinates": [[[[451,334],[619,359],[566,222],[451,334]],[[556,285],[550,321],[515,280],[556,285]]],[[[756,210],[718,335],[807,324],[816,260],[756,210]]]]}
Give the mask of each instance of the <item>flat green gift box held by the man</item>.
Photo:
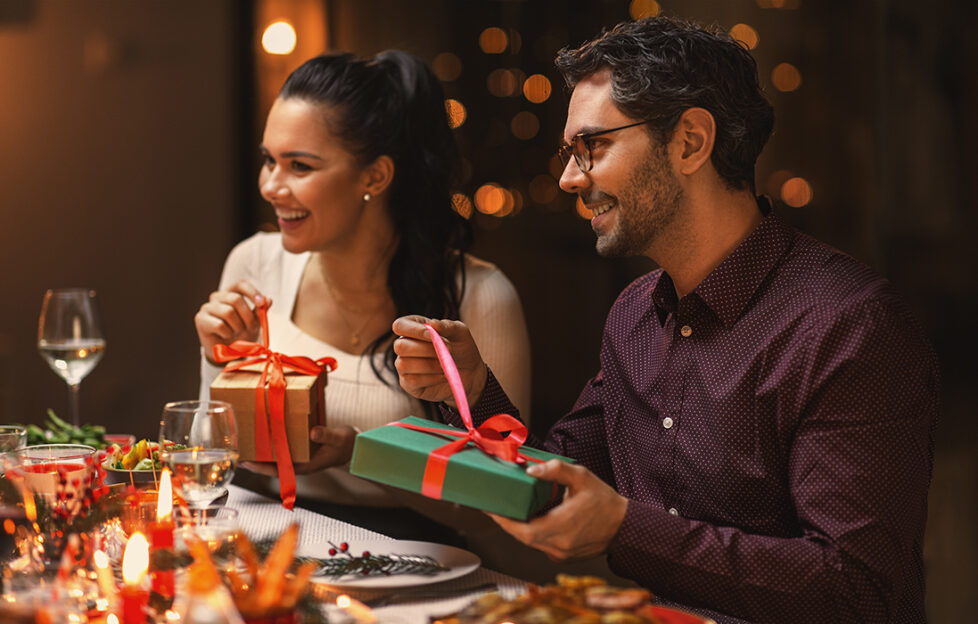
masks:
{"type": "MultiPolygon", "coordinates": [[[[399,422],[462,431],[423,418],[409,416],[399,422]]],[[[458,438],[415,431],[397,425],[386,425],[357,436],[353,447],[350,472],[359,477],[422,493],[422,481],[428,454],[458,438]]],[[[574,460],[546,451],[521,447],[520,453],[546,461],[574,460]]],[[[526,474],[525,466],[493,457],[469,442],[448,460],[441,499],[475,507],[501,516],[527,520],[553,498],[554,484],[526,474]]]]}

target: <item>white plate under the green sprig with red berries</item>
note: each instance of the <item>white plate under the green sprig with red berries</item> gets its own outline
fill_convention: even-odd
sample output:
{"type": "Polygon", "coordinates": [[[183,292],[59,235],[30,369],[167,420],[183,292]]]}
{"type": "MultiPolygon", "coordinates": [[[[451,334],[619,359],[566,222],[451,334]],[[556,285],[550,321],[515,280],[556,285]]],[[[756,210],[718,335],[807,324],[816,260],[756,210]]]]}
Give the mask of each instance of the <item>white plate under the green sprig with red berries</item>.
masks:
{"type": "MultiPolygon", "coordinates": [[[[335,542],[338,543],[338,542],[335,542]]],[[[360,556],[363,551],[370,551],[374,555],[427,555],[442,567],[448,568],[444,572],[438,572],[431,576],[422,574],[393,574],[391,576],[354,576],[352,574],[341,577],[317,576],[313,580],[318,583],[332,585],[335,587],[358,587],[358,588],[388,588],[388,587],[411,587],[413,585],[427,585],[429,583],[440,583],[449,579],[465,576],[481,565],[482,561],[467,550],[446,546],[445,544],[434,544],[432,542],[411,542],[405,540],[360,540],[349,543],[349,553],[360,556]]],[[[330,559],[329,544],[306,544],[296,549],[296,555],[301,557],[315,557],[317,559],[330,559]]]]}

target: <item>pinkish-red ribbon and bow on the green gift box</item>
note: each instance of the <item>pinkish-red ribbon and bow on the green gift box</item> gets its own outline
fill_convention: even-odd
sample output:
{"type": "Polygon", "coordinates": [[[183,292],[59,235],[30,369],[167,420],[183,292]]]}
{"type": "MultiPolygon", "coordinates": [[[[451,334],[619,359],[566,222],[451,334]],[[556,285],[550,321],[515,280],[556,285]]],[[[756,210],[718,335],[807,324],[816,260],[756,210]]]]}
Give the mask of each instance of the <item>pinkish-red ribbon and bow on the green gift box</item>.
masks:
{"type": "Polygon", "coordinates": [[[520,453],[520,447],[526,441],[527,429],[522,421],[513,418],[509,414],[496,414],[484,423],[475,427],[472,424],[472,414],[469,411],[469,403],[465,398],[465,389],[462,386],[462,378],[458,374],[458,368],[445,346],[444,340],[430,324],[425,324],[431,335],[431,342],[435,347],[435,354],[445,377],[448,378],[448,385],[452,389],[452,396],[458,405],[459,414],[465,424],[466,431],[455,431],[451,429],[439,429],[436,427],[422,427],[403,422],[391,423],[398,427],[405,427],[415,431],[424,431],[437,435],[446,435],[459,438],[444,446],[440,446],[428,454],[428,462],[425,464],[424,478],[421,483],[421,493],[429,498],[441,498],[442,487],[445,484],[445,470],[448,467],[448,460],[455,453],[461,451],[469,442],[473,442],[483,452],[504,459],[526,464],[527,461],[542,463],[542,459],[530,457],[520,453]],[[504,435],[508,433],[509,435],[504,435]]]}

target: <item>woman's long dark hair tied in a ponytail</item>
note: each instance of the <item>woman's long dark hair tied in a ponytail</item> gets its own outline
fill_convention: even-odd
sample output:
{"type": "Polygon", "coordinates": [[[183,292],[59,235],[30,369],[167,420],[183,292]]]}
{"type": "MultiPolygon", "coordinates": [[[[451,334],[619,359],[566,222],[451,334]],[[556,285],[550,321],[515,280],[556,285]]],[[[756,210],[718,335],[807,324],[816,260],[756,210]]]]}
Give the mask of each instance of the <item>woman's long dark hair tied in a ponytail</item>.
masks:
{"type": "MultiPolygon", "coordinates": [[[[458,319],[472,228],[452,209],[458,146],[431,69],[398,50],[371,58],[323,54],[292,72],[279,98],[321,105],[327,128],[361,166],[382,155],[394,161],[388,207],[399,241],[387,287],[397,315],[458,319]]],[[[384,366],[394,371],[392,336],[388,330],[367,351],[375,354],[389,343],[384,366]]]]}

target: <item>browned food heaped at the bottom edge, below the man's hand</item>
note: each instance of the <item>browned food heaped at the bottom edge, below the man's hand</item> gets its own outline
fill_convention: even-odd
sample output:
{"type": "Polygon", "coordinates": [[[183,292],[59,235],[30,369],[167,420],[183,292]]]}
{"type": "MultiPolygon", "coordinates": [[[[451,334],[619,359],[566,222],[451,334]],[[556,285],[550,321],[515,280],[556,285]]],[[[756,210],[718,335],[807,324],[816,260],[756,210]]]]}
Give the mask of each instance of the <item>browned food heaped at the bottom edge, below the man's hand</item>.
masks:
{"type": "Polygon", "coordinates": [[[476,598],[443,624],[501,624],[546,622],[573,624],[660,624],[644,589],[609,586],[591,576],[557,575],[556,585],[530,585],[513,600],[498,593],[476,598]]]}

